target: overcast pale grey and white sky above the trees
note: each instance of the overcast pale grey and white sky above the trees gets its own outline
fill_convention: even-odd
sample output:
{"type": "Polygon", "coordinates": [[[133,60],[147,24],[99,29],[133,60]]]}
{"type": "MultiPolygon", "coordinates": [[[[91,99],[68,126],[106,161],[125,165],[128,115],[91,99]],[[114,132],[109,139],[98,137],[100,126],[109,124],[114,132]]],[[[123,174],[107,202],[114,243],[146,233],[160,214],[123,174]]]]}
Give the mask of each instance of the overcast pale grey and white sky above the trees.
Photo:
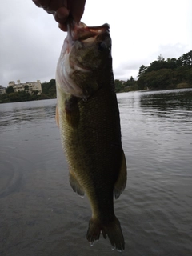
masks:
{"type": "MultiPolygon", "coordinates": [[[[137,78],[140,66],[159,54],[178,58],[192,50],[191,0],[87,0],[82,22],[110,24],[114,78],[137,78]]],[[[66,33],[31,0],[0,6],[0,85],[49,82],[55,76],[66,33]]]]}

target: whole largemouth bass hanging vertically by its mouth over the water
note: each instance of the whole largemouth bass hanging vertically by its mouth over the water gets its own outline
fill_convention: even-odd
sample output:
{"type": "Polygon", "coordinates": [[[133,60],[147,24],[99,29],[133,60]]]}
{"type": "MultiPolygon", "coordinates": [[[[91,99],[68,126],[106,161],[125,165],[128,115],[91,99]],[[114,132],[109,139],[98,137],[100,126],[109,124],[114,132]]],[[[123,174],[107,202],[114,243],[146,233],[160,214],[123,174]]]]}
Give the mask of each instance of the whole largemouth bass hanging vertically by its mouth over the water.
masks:
{"type": "Polygon", "coordinates": [[[92,217],[86,238],[100,234],[117,250],[125,242],[114,197],[126,186],[118,102],[114,88],[109,25],[70,25],[56,71],[58,120],[70,185],[87,195],[92,217]]]}

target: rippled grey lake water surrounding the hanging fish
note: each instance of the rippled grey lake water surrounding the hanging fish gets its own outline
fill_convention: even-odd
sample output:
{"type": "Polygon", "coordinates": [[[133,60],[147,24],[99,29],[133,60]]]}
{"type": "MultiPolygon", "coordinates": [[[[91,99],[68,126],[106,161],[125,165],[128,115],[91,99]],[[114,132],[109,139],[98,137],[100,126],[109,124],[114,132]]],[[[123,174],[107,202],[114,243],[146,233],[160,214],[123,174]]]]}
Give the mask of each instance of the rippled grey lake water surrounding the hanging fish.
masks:
{"type": "MultiPolygon", "coordinates": [[[[192,255],[192,90],[118,94],[126,190],[114,202],[130,256],[192,255]]],[[[109,256],[91,247],[87,198],[74,194],[56,100],[0,105],[0,255],[109,256]]]]}

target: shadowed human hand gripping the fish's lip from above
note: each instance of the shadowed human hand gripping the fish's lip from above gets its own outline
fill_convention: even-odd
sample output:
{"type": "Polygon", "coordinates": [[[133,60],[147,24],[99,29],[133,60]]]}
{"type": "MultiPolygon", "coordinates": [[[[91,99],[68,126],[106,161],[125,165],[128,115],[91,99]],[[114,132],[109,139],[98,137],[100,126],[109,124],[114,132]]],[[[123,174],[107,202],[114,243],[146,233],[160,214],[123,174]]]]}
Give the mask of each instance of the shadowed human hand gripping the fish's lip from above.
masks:
{"type": "Polygon", "coordinates": [[[33,0],[36,6],[53,14],[61,30],[66,31],[66,22],[71,14],[75,22],[80,22],[86,0],[33,0]]]}

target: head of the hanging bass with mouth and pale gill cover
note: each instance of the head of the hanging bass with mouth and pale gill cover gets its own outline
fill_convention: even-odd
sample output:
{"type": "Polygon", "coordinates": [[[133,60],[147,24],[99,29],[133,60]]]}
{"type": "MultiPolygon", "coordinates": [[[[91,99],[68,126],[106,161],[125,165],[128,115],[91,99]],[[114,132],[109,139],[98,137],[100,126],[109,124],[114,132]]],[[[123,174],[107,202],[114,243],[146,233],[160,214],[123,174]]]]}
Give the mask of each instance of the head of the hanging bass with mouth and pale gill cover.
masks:
{"type": "Polygon", "coordinates": [[[109,25],[73,23],[58,60],[57,86],[66,94],[86,99],[105,84],[111,73],[109,25]]]}

